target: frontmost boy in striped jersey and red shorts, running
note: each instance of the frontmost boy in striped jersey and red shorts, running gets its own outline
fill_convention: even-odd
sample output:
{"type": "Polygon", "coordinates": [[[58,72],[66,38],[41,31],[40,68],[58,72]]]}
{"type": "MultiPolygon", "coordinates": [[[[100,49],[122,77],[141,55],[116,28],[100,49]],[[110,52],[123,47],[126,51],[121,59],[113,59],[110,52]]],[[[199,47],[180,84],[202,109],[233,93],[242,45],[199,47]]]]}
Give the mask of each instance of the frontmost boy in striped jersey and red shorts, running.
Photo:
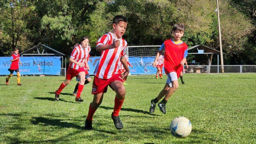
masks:
{"type": "Polygon", "coordinates": [[[127,78],[130,71],[125,58],[127,42],[122,38],[127,28],[127,19],[121,15],[115,16],[112,27],[113,33],[105,34],[97,42],[96,50],[101,52],[101,56],[94,71],[95,77],[92,84],[92,94],[94,96],[85,120],[85,130],[92,130],[92,117],[100,106],[108,85],[116,92],[114,112],[111,117],[117,129],[123,128],[119,117],[125,97],[123,79],[127,78]],[[125,68],[123,76],[118,72],[120,62],[125,68]]]}

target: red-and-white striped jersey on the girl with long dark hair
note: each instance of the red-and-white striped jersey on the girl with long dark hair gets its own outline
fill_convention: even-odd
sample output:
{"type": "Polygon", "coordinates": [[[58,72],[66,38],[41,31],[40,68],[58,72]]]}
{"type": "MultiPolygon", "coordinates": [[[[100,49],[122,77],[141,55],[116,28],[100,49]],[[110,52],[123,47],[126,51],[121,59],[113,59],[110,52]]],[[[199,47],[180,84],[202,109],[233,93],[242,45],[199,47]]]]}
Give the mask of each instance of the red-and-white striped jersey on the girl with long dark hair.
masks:
{"type": "MultiPolygon", "coordinates": [[[[77,62],[85,63],[85,60],[87,59],[89,54],[89,50],[91,50],[89,46],[83,49],[81,44],[79,44],[73,49],[70,58],[76,60],[77,62]]],[[[73,69],[81,68],[79,65],[72,62],[69,63],[69,67],[73,69]]]]}

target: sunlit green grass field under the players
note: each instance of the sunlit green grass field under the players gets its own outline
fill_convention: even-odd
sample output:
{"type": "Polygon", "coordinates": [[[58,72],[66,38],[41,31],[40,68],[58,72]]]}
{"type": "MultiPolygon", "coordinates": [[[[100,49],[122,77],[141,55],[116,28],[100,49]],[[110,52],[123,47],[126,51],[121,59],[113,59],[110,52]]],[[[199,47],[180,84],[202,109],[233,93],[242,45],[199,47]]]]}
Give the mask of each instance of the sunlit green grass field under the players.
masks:
{"type": "Polygon", "coordinates": [[[82,93],[85,100],[71,96],[76,81],[54,91],[65,77],[16,77],[5,85],[0,77],[1,143],[256,143],[256,74],[185,74],[166,105],[164,115],[156,107],[149,114],[150,100],[164,86],[154,76],[129,76],[126,98],[120,112],[124,128],[117,130],[111,119],[115,93],[110,88],[93,119],[93,131],[84,131],[92,101],[92,82],[82,93]],[[192,132],[185,139],[172,136],[173,118],[185,116],[192,132]]]}

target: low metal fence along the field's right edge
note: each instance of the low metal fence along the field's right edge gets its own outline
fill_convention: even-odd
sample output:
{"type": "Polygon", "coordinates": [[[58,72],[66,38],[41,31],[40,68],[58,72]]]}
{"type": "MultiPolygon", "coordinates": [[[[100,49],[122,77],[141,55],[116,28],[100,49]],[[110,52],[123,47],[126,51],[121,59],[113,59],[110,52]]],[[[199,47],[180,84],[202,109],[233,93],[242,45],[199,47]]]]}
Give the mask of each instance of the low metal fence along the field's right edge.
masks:
{"type": "MultiPolygon", "coordinates": [[[[186,73],[221,73],[220,65],[189,65],[184,69],[186,73]]],[[[256,65],[224,65],[224,73],[256,73],[256,65]]]]}

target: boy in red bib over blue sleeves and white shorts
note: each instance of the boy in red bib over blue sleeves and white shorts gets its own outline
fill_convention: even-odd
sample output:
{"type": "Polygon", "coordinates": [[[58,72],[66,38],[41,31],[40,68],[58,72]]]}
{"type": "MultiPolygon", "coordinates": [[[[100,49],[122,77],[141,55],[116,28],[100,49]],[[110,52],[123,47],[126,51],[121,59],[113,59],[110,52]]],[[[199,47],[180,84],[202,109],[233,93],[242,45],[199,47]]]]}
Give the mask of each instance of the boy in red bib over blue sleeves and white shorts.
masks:
{"type": "Polygon", "coordinates": [[[158,106],[160,111],[166,114],[165,105],[173,92],[175,92],[179,87],[178,78],[180,76],[180,72],[183,70],[183,65],[186,62],[186,57],[188,55],[188,45],[180,40],[185,32],[184,25],[181,23],[175,24],[172,32],[174,38],[164,41],[157,52],[156,59],[153,63],[153,66],[156,67],[158,57],[165,50],[164,71],[168,78],[163,90],[155,99],[151,100],[151,106],[149,108],[150,113],[155,111],[156,104],[164,97],[164,99],[158,103],[158,106]]]}

